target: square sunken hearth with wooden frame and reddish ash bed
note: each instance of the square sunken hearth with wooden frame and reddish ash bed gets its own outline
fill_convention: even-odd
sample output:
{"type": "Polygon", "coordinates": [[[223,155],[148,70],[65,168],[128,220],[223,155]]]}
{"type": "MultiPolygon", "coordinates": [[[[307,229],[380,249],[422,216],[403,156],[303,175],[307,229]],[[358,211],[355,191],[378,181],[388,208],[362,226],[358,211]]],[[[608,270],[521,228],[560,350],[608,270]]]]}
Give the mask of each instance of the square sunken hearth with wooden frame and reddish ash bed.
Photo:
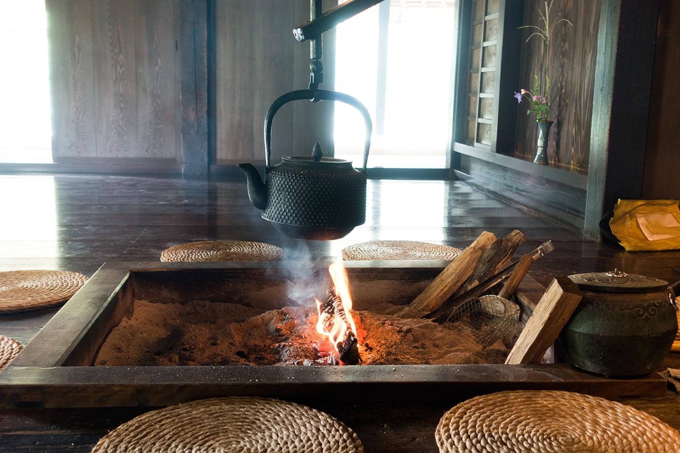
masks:
{"type": "MultiPolygon", "coordinates": [[[[316,329],[318,308],[308,300],[330,288],[329,264],[107,263],[0,373],[0,407],[302,400],[328,392],[439,403],[522,388],[588,388],[605,397],[665,392],[658,375],[613,380],[568,363],[505,365],[502,340],[482,350],[474,338],[462,341],[465,333],[409,316],[403,307],[445,261],[347,262],[361,361],[333,365],[339,356],[316,329]]],[[[522,283],[522,321],[543,292],[531,279],[522,283]]]]}

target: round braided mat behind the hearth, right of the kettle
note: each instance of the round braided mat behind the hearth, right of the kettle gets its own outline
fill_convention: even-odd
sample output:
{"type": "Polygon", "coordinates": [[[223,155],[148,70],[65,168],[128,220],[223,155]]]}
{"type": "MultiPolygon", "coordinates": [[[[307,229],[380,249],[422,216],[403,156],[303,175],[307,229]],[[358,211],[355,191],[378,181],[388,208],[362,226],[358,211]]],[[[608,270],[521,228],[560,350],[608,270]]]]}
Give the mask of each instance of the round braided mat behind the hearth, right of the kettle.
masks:
{"type": "Polygon", "coordinates": [[[360,260],[449,260],[458,258],[462,250],[418,241],[369,241],[342,250],[347,261],[360,260]]]}

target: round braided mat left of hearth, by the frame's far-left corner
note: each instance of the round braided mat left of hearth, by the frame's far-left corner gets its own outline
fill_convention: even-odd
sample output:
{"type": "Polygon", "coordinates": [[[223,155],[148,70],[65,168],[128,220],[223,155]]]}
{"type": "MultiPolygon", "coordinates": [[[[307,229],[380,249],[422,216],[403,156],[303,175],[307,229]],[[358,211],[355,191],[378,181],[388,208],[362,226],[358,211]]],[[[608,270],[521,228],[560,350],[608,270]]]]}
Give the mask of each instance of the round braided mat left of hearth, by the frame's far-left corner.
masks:
{"type": "Polygon", "coordinates": [[[0,313],[56,307],[71,299],[87,280],[69,271],[0,272],[0,313]]]}

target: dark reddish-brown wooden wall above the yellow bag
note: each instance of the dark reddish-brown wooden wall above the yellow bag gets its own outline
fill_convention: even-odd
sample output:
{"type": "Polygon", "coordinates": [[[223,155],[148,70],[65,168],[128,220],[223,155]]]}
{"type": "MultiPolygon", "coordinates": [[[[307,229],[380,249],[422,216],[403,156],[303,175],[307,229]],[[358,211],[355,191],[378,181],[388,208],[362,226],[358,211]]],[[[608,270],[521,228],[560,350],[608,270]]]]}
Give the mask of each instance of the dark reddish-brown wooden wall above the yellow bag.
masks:
{"type": "Polygon", "coordinates": [[[656,52],[651,82],[644,199],[680,199],[680,1],[659,2],[656,52]]]}

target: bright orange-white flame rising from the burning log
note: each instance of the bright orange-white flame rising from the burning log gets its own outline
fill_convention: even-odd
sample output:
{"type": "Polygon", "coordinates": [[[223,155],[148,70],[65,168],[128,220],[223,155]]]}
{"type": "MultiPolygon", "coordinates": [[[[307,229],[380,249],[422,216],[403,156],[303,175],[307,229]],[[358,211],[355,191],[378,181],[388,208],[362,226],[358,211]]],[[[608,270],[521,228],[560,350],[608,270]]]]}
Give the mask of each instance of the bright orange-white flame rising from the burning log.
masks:
{"type": "Polygon", "coordinates": [[[316,308],[319,313],[319,320],[316,323],[316,330],[322,335],[327,335],[333,346],[337,349],[337,343],[341,339],[345,338],[347,333],[347,324],[349,328],[352,329],[354,335],[356,335],[356,325],[354,324],[354,319],[352,319],[352,314],[350,310],[352,309],[352,297],[350,297],[350,279],[347,277],[347,269],[343,265],[342,258],[328,267],[328,272],[330,273],[330,278],[333,279],[333,284],[335,285],[335,292],[342,303],[342,309],[346,317],[341,316],[339,310],[335,311],[334,318],[331,321],[330,314],[327,312],[322,312],[321,305],[322,302],[314,298],[316,301],[316,308]],[[330,321],[330,322],[329,322],[330,321]],[[326,327],[330,326],[330,332],[326,331],[326,327]]]}

